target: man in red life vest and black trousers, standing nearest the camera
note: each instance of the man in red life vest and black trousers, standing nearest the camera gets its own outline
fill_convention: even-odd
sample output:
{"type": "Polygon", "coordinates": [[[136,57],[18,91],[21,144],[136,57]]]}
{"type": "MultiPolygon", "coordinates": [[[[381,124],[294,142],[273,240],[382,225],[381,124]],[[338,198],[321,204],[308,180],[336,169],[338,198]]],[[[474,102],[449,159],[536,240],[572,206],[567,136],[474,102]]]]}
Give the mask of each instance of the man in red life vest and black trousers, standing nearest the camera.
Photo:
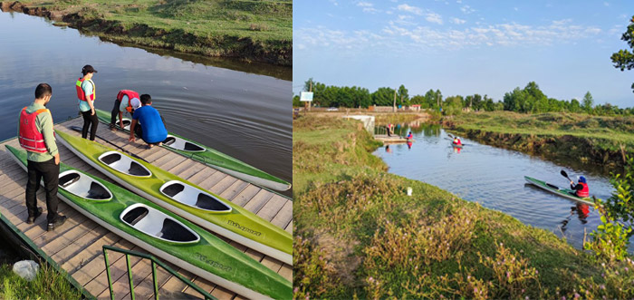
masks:
{"type": "Polygon", "coordinates": [[[35,193],[40,189],[43,179],[46,191],[46,218],[51,231],[61,226],[65,216],[57,214],[57,184],[60,176],[60,153],[53,135],[53,117],[51,111],[45,108],[51,101],[53,89],[46,83],[40,83],[35,88],[35,100],[31,105],[20,111],[18,124],[18,140],[20,146],[26,150],[26,169],[28,182],[26,183],[26,209],[28,218],[26,224],[33,224],[42,215],[42,208],[37,207],[35,193]]]}

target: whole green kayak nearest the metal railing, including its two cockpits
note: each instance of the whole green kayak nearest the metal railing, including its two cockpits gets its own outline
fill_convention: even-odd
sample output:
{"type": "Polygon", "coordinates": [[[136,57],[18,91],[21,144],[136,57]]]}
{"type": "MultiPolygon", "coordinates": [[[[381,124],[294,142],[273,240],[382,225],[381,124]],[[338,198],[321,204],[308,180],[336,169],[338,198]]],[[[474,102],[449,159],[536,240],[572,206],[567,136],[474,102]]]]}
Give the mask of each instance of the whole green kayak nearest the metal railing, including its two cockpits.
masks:
{"type": "MultiPolygon", "coordinates": [[[[6,148],[26,170],[26,152],[6,148]]],[[[172,264],[250,298],[290,298],[291,283],[164,208],[61,164],[58,195],[87,218],[172,264]]]]}

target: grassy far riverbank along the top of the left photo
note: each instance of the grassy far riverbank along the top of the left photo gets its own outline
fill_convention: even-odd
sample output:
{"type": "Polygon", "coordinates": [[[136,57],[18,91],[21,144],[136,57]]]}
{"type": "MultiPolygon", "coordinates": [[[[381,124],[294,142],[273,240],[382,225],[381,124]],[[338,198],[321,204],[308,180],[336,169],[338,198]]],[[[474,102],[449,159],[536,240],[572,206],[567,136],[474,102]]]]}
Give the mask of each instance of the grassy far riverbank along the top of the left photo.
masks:
{"type": "Polygon", "coordinates": [[[4,1],[2,8],[49,17],[110,41],[293,64],[291,0],[30,0],[4,1]]]}

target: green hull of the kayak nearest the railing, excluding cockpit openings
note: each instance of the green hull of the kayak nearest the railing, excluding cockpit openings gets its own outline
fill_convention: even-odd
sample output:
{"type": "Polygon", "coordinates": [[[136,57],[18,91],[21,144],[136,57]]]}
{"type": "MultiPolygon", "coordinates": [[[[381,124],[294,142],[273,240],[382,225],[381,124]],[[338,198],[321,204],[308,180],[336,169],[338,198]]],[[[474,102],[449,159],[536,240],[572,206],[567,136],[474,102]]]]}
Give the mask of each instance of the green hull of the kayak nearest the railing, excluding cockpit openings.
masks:
{"type": "MultiPolygon", "coordinates": [[[[10,146],[6,146],[6,148],[13,154],[12,158],[15,162],[26,170],[26,153],[10,146]]],[[[186,219],[180,218],[115,184],[61,163],[60,174],[69,173],[77,173],[94,180],[108,189],[111,197],[106,200],[82,198],[61,186],[58,192],[60,198],[87,218],[129,240],[134,245],[180,266],[188,272],[217,285],[225,286],[240,295],[250,298],[280,298],[292,294],[291,283],[288,280],[186,219]],[[197,238],[186,243],[179,243],[178,241],[152,237],[148,233],[139,231],[138,228],[132,227],[120,219],[125,211],[135,206],[159,211],[167,218],[179,223],[180,226],[187,228],[197,238]],[[209,254],[214,255],[210,257],[209,254]]]]}

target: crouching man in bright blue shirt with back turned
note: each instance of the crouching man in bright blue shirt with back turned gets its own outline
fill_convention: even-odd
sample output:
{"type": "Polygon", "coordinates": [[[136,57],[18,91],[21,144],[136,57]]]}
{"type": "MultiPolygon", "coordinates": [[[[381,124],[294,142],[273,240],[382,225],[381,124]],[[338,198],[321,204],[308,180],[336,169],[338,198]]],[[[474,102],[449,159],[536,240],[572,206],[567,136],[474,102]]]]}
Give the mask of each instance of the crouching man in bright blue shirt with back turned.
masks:
{"type": "Polygon", "coordinates": [[[141,95],[141,107],[134,111],[132,124],[130,124],[130,141],[135,141],[135,133],[148,143],[148,149],[154,145],[161,146],[163,140],[168,138],[168,130],[165,128],[165,121],[160,116],[159,111],[153,108],[152,98],[149,94],[141,95]],[[140,126],[142,125],[142,127],[140,126]]]}

